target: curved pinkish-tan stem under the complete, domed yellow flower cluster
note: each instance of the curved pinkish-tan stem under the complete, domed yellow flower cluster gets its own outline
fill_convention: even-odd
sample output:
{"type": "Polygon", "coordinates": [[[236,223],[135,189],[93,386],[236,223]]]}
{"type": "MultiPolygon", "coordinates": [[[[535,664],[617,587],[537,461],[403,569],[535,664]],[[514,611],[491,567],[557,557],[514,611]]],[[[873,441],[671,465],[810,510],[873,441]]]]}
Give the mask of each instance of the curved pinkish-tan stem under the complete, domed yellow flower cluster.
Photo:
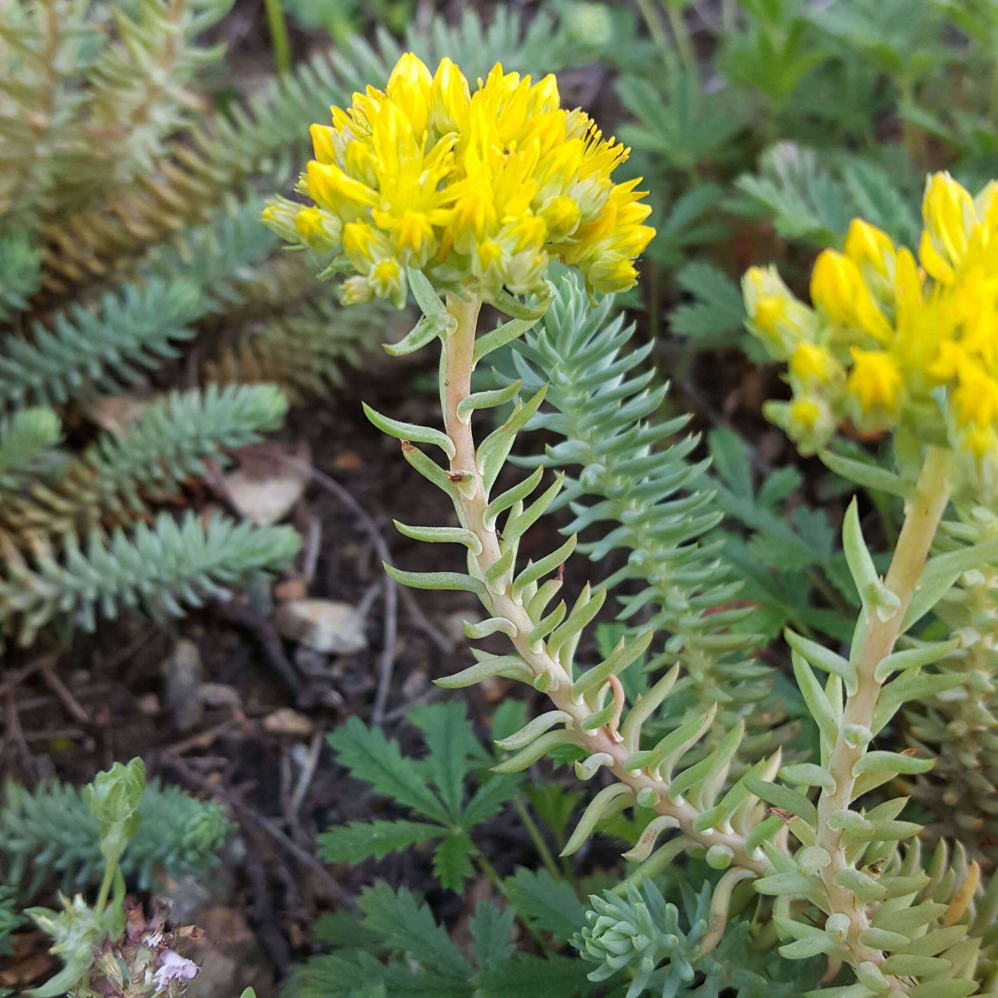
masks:
{"type": "MultiPolygon", "coordinates": [[[[444,425],[447,436],[454,444],[451,470],[471,475],[474,481],[473,489],[468,488],[460,493],[459,502],[465,526],[481,542],[482,551],[477,556],[477,561],[480,573],[484,577],[485,572],[500,557],[499,538],[493,527],[485,525],[487,503],[481,473],[475,466],[475,440],[471,423],[462,422],[457,414],[458,404],[471,393],[475,328],[480,305],[481,302],[474,298],[461,299],[450,296],[447,299],[447,308],[457,320],[457,328],[444,338],[443,401],[444,425]]],[[[629,770],[624,763],[631,754],[630,749],[614,739],[607,727],[592,732],[583,731],[582,722],[589,711],[583,704],[577,704],[572,699],[572,678],[561,664],[548,654],[544,644],[531,647],[528,638],[534,625],[522,604],[513,599],[508,581],[499,580],[494,585],[489,585],[489,596],[495,615],[511,621],[516,628],[516,635],[511,640],[523,661],[535,676],[542,676],[545,673],[550,676],[553,682],[548,690],[548,696],[559,710],[572,717],[573,732],[581,748],[591,754],[597,752],[609,754],[614,761],[608,765],[608,768],[620,782],[629,786],[635,793],[646,787],[658,793],[659,802],[655,809],[660,814],[676,818],[683,833],[705,848],[710,848],[712,845],[727,846],[734,853],[733,863],[757,876],[764,876],[771,871],[771,865],[762,852],[756,849],[749,853],[744,837],[737,832],[717,829],[695,831],[693,825],[700,817],[700,809],[689,800],[671,799],[668,785],[654,779],[647,772],[629,770]]]]}

